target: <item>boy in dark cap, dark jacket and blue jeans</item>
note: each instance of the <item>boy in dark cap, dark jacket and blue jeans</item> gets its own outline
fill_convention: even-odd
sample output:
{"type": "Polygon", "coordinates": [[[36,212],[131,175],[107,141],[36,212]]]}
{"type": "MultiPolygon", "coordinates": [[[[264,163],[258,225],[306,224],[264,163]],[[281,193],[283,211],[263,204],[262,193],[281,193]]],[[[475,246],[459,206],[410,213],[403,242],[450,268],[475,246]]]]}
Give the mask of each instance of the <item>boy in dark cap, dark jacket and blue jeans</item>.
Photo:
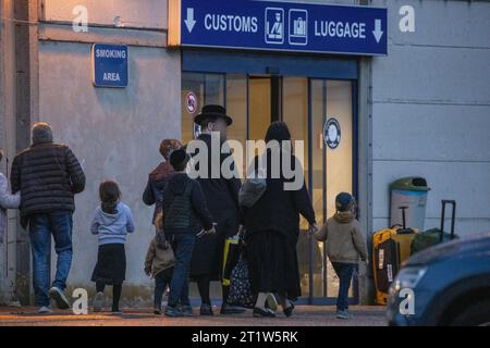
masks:
{"type": "Polygon", "coordinates": [[[183,149],[172,152],[170,163],[176,174],[163,190],[163,231],[175,254],[169,304],[164,311],[168,316],[192,314],[187,281],[194,245],[200,226],[205,234],[216,233],[199,183],[185,173],[188,160],[189,156],[183,149]],[[181,308],[177,308],[179,302],[181,308]]]}

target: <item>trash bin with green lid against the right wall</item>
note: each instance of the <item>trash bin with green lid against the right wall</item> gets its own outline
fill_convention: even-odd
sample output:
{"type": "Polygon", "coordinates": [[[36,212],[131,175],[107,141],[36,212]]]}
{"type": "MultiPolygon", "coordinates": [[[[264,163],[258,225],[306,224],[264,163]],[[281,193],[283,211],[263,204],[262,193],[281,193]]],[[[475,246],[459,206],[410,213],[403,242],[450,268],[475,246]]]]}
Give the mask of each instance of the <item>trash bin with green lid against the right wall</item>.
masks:
{"type": "Polygon", "coordinates": [[[429,190],[427,181],[419,176],[404,177],[393,182],[390,185],[390,226],[403,225],[402,207],[406,207],[406,227],[424,231],[429,190]]]}

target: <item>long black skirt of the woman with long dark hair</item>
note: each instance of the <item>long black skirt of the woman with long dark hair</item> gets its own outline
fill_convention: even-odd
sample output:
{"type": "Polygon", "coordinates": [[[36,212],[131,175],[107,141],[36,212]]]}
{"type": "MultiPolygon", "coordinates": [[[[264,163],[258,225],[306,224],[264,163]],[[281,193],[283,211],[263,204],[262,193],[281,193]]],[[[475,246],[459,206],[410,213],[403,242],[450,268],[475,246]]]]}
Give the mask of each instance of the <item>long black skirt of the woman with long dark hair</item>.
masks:
{"type": "Polygon", "coordinates": [[[247,234],[246,258],[254,293],[302,295],[297,254],[294,244],[278,231],[247,234]]]}

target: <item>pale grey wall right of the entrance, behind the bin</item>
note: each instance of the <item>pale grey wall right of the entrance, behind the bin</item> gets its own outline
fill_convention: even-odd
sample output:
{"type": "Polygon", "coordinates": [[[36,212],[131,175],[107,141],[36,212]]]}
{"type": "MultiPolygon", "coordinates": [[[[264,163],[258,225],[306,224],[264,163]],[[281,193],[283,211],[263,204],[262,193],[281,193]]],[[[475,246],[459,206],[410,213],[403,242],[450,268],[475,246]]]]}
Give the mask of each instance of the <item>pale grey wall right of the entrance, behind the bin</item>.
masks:
{"type": "Polygon", "coordinates": [[[421,175],[426,228],[457,200],[456,232],[490,231],[490,3],[372,1],[389,9],[389,57],[372,60],[372,214],[389,224],[388,185],[421,175]],[[399,9],[415,9],[401,33],[399,9]]]}

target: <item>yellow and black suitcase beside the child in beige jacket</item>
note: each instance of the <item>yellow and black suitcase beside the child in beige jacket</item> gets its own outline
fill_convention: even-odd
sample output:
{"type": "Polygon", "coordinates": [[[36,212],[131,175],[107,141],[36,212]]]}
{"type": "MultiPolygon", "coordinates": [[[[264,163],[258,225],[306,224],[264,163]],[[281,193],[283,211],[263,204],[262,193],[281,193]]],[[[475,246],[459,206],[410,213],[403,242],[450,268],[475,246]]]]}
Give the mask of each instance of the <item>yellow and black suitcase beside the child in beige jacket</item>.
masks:
{"type": "Polygon", "coordinates": [[[417,235],[416,229],[405,226],[406,207],[400,209],[403,214],[403,226],[392,226],[372,235],[372,266],[378,304],[387,304],[390,285],[402,262],[411,256],[411,245],[417,235]]]}

